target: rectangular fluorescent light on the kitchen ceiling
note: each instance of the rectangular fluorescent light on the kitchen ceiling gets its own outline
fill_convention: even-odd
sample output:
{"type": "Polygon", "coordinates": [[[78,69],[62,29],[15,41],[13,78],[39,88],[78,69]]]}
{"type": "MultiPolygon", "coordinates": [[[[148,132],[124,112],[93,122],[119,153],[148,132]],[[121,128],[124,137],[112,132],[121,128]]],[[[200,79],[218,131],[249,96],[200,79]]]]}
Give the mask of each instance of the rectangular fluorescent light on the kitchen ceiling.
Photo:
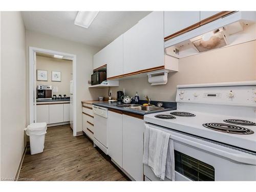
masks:
{"type": "Polygon", "coordinates": [[[98,11],[78,11],[75,18],[75,25],[88,28],[97,14],[98,11]]]}

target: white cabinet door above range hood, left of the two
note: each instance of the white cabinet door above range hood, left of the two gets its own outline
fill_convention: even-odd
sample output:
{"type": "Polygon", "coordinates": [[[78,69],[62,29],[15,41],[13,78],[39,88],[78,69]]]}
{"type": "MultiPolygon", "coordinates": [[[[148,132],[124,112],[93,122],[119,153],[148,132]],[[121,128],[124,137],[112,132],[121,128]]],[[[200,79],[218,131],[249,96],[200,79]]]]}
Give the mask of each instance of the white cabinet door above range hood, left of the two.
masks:
{"type": "Polygon", "coordinates": [[[164,11],[164,36],[200,22],[200,11],[164,11]]]}

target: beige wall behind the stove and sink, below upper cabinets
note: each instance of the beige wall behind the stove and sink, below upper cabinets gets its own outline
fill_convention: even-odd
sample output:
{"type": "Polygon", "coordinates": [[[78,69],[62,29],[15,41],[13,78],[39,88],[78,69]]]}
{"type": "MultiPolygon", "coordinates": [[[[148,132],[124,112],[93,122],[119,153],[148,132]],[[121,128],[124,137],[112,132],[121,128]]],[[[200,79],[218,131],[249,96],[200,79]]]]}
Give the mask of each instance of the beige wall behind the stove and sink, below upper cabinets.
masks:
{"type": "MultiPolygon", "coordinates": [[[[179,72],[168,74],[168,82],[151,86],[147,77],[120,80],[116,91],[131,96],[138,91],[140,99],[148,95],[153,100],[175,101],[177,84],[256,80],[256,41],[222,48],[179,60],[179,72]]],[[[104,94],[108,95],[107,92],[104,94]]]]}

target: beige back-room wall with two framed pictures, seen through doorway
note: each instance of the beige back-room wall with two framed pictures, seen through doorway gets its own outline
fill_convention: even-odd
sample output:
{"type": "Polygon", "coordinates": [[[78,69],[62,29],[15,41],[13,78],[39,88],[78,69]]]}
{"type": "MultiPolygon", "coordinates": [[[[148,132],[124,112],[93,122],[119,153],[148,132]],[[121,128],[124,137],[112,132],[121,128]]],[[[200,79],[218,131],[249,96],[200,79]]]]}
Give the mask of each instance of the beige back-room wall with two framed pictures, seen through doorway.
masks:
{"type": "Polygon", "coordinates": [[[53,92],[52,95],[62,96],[64,94],[67,97],[70,96],[70,80],[72,79],[72,61],[50,58],[44,56],[36,56],[36,69],[48,71],[48,81],[36,81],[36,85],[54,86],[58,87],[58,92],[53,92]],[[61,72],[61,81],[52,81],[52,71],[61,72]]]}

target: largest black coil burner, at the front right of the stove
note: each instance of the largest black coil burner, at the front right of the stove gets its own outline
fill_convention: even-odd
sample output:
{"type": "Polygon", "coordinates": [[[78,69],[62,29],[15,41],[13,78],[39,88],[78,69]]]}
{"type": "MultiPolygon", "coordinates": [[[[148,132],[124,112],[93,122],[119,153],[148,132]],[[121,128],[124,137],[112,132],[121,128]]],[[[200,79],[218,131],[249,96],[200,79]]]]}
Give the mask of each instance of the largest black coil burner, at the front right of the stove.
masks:
{"type": "Polygon", "coordinates": [[[204,123],[203,126],[211,130],[231,134],[249,135],[254,133],[252,130],[249,130],[245,127],[226,123],[204,123]]]}

